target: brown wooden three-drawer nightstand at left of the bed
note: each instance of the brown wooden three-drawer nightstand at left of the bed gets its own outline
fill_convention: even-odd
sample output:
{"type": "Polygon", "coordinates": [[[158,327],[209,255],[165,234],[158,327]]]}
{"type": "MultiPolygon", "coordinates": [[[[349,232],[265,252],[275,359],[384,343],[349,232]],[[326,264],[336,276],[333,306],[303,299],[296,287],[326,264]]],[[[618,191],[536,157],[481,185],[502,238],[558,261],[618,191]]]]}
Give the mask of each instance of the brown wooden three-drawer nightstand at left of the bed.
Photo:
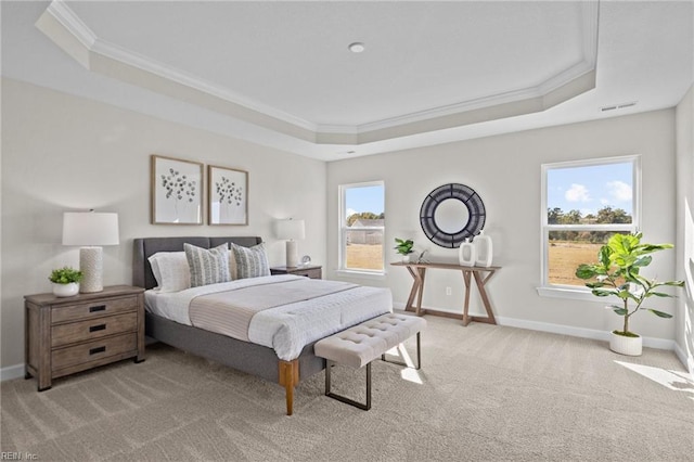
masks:
{"type": "Polygon", "coordinates": [[[56,297],[25,296],[26,378],[53,378],[134,357],[144,361],[144,288],[129,285],[56,297]]]}

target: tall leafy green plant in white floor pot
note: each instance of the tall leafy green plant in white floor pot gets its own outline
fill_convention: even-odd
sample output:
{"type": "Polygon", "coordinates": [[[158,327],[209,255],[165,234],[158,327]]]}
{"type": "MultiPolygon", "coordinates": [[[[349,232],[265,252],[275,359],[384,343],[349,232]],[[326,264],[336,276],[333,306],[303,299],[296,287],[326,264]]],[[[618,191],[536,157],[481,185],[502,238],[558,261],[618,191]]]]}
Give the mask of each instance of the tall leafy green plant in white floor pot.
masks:
{"type": "Polygon", "coordinates": [[[641,274],[641,269],[653,261],[650,254],[673,247],[672,244],[645,244],[641,238],[641,233],[614,234],[600,248],[596,264],[582,264],[576,270],[576,277],[594,280],[586,283],[593,295],[621,299],[621,304],[609,305],[624,318],[621,331],[612,332],[609,348],[630,356],[641,355],[642,349],[641,336],[629,330],[630,318],[640,310],[651,311],[659,318],[672,318],[672,315],[645,307],[644,303],[651,297],[673,297],[660,292],[659,287],[684,285],[684,281],[659,282],[641,274]]]}

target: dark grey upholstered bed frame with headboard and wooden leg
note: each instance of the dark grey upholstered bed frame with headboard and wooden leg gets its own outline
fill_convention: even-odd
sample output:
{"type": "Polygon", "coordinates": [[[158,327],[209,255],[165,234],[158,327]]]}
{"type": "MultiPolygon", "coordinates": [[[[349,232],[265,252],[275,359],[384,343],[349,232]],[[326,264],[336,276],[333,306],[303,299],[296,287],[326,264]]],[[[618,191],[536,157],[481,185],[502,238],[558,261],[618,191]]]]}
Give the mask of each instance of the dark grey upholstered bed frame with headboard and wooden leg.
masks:
{"type": "MultiPolygon", "coordinates": [[[[214,248],[226,243],[233,243],[243,247],[254,247],[262,240],[258,236],[231,236],[231,238],[143,238],[133,241],[133,285],[151,290],[157,286],[150,257],[157,253],[182,252],[184,244],[192,244],[202,248],[214,248]]],[[[298,277],[267,277],[288,279],[298,277]]],[[[297,281],[300,282],[300,281],[297,281]]],[[[313,280],[318,283],[319,281],[313,280]]],[[[325,282],[327,283],[327,282],[325,282]]],[[[387,290],[384,290],[387,291],[387,290]]],[[[188,291],[183,291],[188,292],[188,291]]],[[[320,300],[313,300],[313,305],[320,300]],[[318,301],[317,301],[318,300],[318,301]]],[[[383,305],[383,296],[380,304],[383,305]]],[[[149,303],[145,303],[147,305],[149,303]]],[[[388,307],[391,310],[391,299],[388,293],[388,307]]],[[[383,309],[378,308],[382,313],[383,309]]],[[[156,311],[156,310],[154,310],[156,311]]],[[[264,313],[266,311],[262,311],[264,313]]],[[[374,315],[373,317],[378,316],[374,315]]],[[[349,321],[347,321],[349,322],[349,321]]],[[[358,323],[351,321],[350,325],[358,323]]],[[[345,329],[347,329],[346,325],[345,329]]],[[[294,388],[300,380],[310,377],[325,369],[325,361],[313,354],[313,345],[318,339],[311,339],[295,352],[282,351],[280,356],[271,346],[246,342],[224,335],[219,332],[210,332],[194,325],[189,325],[176,320],[167,319],[149,309],[145,312],[145,333],[147,336],[164,344],[174,346],[184,351],[201,356],[246,372],[267,381],[275,382],[285,389],[286,413],[292,415],[294,407],[294,388]]],[[[330,335],[330,334],[326,334],[330,335]]],[[[326,336],[325,335],[325,336],[326,336]]]]}

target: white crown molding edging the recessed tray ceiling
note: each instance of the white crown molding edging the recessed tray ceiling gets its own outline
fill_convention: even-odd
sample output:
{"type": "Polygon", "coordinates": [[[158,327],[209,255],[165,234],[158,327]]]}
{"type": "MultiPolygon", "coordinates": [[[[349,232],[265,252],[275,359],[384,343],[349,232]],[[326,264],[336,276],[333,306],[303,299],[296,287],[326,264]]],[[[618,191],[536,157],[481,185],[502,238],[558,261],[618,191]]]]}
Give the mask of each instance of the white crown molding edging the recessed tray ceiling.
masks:
{"type": "Polygon", "coordinates": [[[36,26],[91,72],[316,144],[359,145],[544,111],[595,87],[600,2],[581,2],[582,60],[537,86],[361,125],[316,124],[99,38],[62,0],[36,26]]]}

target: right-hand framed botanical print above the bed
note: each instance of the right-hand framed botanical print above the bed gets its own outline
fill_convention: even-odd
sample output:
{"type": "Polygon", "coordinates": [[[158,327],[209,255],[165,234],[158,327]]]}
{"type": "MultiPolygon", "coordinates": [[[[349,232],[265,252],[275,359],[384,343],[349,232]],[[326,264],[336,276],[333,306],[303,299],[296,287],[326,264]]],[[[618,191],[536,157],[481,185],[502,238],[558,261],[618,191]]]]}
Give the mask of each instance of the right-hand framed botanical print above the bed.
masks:
{"type": "Polygon", "coordinates": [[[207,188],[209,224],[248,224],[247,171],[208,165],[207,188]]]}

